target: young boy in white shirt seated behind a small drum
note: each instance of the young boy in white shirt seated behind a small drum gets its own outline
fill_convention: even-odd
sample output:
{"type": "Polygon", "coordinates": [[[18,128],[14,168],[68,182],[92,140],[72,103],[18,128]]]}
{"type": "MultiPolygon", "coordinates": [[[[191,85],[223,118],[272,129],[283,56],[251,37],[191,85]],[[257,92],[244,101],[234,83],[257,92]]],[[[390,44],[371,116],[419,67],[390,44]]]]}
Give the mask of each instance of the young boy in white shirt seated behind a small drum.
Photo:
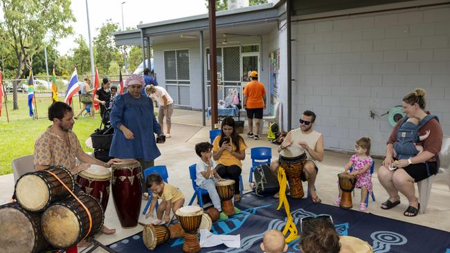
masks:
{"type": "Polygon", "coordinates": [[[213,202],[215,209],[219,210],[219,218],[221,221],[226,220],[228,216],[222,212],[222,205],[220,204],[219,194],[217,194],[217,189],[215,189],[215,183],[217,181],[222,181],[217,171],[214,169],[215,162],[211,157],[213,156],[213,145],[209,142],[200,142],[195,144],[195,153],[200,157],[199,162],[195,167],[195,172],[197,179],[195,182],[201,189],[206,189],[208,191],[209,197],[213,202]]]}

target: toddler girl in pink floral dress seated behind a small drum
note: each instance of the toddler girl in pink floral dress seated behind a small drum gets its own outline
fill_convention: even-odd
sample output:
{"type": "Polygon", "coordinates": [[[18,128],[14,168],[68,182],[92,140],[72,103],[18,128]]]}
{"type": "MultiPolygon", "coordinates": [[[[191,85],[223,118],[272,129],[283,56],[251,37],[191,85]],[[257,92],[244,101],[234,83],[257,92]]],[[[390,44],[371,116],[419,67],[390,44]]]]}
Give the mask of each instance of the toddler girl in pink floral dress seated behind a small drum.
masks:
{"type": "MultiPolygon", "coordinates": [[[[354,151],[356,152],[350,161],[345,165],[345,172],[348,172],[350,167],[353,167],[350,175],[357,176],[356,188],[361,188],[361,203],[359,203],[359,210],[365,212],[367,194],[372,194],[372,175],[370,175],[370,167],[372,167],[372,158],[370,158],[370,139],[362,137],[354,144],[354,151]]],[[[339,198],[334,200],[333,205],[341,204],[342,190],[339,187],[339,198]]]]}

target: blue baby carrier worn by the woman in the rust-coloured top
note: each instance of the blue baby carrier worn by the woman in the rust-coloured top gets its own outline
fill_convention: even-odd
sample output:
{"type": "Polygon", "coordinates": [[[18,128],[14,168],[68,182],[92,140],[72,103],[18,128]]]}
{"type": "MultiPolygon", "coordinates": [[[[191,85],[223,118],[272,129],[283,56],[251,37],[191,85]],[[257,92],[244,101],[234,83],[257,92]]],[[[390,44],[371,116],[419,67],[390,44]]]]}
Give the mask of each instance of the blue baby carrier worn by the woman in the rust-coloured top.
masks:
{"type": "Polygon", "coordinates": [[[415,147],[415,143],[419,142],[419,129],[433,118],[439,122],[438,116],[426,115],[417,126],[413,122],[406,122],[406,120],[408,120],[407,117],[402,119],[402,122],[397,129],[397,141],[394,143],[394,149],[395,152],[397,152],[398,160],[408,159],[419,153],[415,147]]]}

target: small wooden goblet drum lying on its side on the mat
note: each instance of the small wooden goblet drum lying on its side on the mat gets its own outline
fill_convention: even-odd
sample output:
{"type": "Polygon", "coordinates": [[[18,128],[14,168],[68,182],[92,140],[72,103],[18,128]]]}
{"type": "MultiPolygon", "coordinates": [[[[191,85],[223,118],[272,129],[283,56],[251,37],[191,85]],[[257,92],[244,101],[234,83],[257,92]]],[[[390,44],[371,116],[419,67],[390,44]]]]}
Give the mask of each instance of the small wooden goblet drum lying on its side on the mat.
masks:
{"type": "Polygon", "coordinates": [[[179,223],[166,227],[165,225],[147,224],[143,230],[143,241],[145,247],[154,250],[157,245],[165,243],[172,238],[181,238],[184,236],[183,227],[179,223]]]}

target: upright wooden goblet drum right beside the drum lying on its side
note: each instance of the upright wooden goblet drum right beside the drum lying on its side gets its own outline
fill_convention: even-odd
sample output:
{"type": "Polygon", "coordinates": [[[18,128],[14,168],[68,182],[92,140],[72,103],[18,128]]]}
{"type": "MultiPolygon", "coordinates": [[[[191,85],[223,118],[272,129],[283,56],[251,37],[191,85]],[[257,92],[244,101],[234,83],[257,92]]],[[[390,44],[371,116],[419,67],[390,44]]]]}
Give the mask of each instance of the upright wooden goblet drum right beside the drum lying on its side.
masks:
{"type": "Polygon", "coordinates": [[[183,252],[195,253],[200,251],[200,243],[197,238],[198,229],[201,223],[203,209],[201,207],[188,205],[181,207],[175,212],[177,219],[184,229],[183,252]]]}

